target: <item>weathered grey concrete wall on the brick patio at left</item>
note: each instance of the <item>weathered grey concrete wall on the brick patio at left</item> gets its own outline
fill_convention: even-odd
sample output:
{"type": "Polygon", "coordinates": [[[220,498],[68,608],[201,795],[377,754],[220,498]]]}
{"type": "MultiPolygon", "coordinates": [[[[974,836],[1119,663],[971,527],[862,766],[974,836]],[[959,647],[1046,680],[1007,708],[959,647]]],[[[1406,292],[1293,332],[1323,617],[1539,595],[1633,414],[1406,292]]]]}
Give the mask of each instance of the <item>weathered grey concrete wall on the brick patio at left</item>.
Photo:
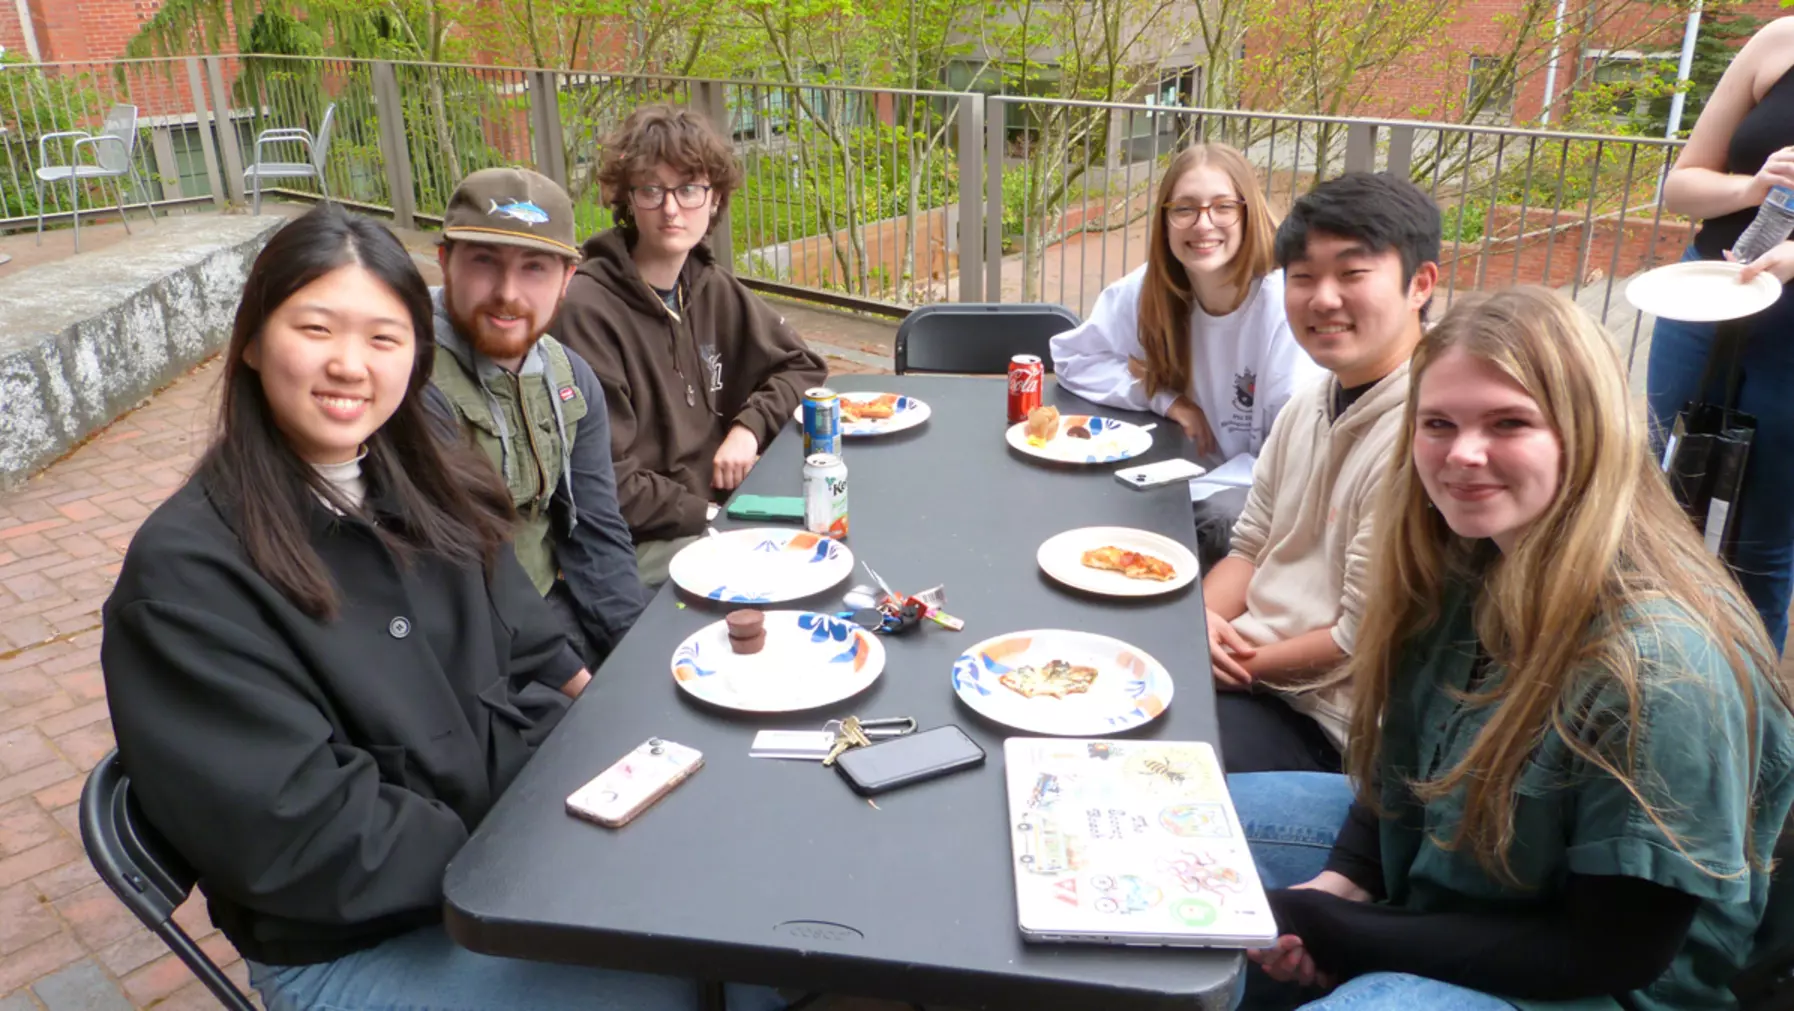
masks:
{"type": "Polygon", "coordinates": [[[224,346],[278,217],[192,215],[0,280],[0,488],[224,346]]]}

